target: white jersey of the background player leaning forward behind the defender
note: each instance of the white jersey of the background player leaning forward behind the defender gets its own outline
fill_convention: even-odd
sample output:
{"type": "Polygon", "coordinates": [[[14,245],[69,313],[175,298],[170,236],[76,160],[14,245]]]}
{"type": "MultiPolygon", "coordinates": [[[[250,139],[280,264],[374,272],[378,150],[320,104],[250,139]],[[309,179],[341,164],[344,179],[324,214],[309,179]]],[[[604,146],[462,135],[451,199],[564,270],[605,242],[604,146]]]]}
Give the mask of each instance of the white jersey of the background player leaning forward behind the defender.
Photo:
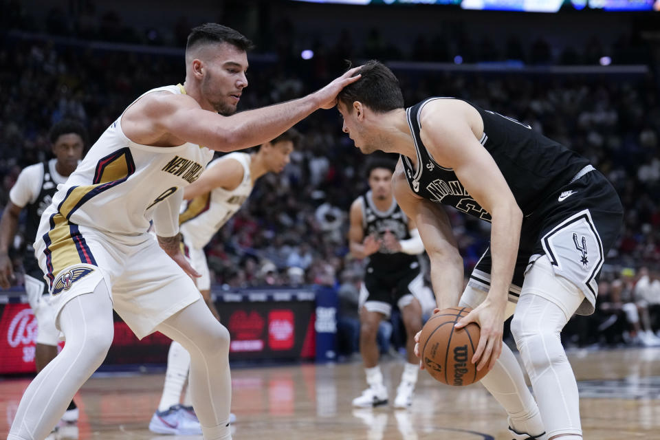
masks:
{"type": "Polygon", "coordinates": [[[179,215],[179,228],[186,243],[201,249],[211,237],[241,208],[252,192],[250,161],[248,153],[234,152],[215,159],[208,164],[208,169],[227,159],[235,159],[243,166],[243,180],[234,190],[214,188],[188,202],[188,206],[179,215]]]}

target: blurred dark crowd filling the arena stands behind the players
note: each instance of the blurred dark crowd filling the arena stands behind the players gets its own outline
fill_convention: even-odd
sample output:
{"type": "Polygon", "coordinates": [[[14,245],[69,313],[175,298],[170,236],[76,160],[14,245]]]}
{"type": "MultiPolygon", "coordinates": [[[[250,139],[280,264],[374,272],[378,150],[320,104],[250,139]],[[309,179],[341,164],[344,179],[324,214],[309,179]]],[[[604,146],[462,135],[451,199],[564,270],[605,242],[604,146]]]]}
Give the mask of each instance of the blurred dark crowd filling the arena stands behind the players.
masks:
{"type": "MultiPolygon", "coordinates": [[[[184,45],[197,23],[180,19],[166,30],[137,29],[123,25],[117,13],[98,14],[91,1],[78,4],[74,21],[58,8],[40,21],[22,2],[0,1],[0,208],[21,169],[50,157],[47,131],[54,122],[82,121],[91,146],[144,91],[184,80],[183,52],[175,48],[184,45]],[[67,39],[54,43],[45,35],[67,39]],[[87,43],[104,39],[171,50],[87,43]]],[[[551,50],[542,39],[525,41],[522,36],[472,41],[469,32],[456,28],[452,38],[421,35],[405,52],[374,28],[364,41],[353,40],[346,31],[338,32],[335,41],[315,41],[314,56],[305,60],[294,43],[294,23],[283,20],[273,27],[278,38],[259,41],[259,53],[250,58],[250,85],[241,110],[303,96],[342,72],[347,59],[597,65],[609,54],[621,63],[648,65],[646,73],[558,75],[428,70],[408,63],[396,67],[395,74],[406,105],[428,96],[470,100],[585,155],[612,181],[626,208],[624,230],[604,266],[597,313],[571,322],[564,337],[580,346],[660,342],[654,336],[660,326],[657,48],[625,32],[608,47],[593,37],[580,47],[551,50]]],[[[342,314],[357,319],[363,262],[348,252],[347,212],[366,190],[366,157],[342,133],[337,111],[319,111],[297,127],[304,138],[291,164],[279,175],[263,177],[243,209],[206,248],[213,281],[221,289],[335,286],[341,292],[342,314]]],[[[489,225],[456,211],[450,215],[469,274],[487,245],[489,225]]],[[[21,245],[19,236],[14,247],[19,273],[21,245]]]]}

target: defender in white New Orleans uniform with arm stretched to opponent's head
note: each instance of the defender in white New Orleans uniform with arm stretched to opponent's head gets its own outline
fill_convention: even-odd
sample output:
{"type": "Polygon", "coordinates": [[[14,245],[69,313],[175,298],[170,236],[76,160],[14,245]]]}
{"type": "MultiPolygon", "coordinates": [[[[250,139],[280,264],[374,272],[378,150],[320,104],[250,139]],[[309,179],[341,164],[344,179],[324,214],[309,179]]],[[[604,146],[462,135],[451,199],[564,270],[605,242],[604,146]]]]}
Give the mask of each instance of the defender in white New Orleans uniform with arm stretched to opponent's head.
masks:
{"type": "Polygon", "coordinates": [[[316,109],[333,107],[357,79],[349,79],[351,71],[304,98],[232,115],[248,85],[250,45],[215,23],[193,29],[184,85],[137,98],[58,188],[34,248],[67,342],[28,386],[8,439],[45,439],[105,358],[113,309],[138,338],[160,331],[186,348],[203,437],[231,438],[229,332],[204,305],[191,279],[199,274],[181,254],[183,188],[213,150],[272,140],[316,109]],[[147,232],[152,220],[160,247],[147,232]]]}

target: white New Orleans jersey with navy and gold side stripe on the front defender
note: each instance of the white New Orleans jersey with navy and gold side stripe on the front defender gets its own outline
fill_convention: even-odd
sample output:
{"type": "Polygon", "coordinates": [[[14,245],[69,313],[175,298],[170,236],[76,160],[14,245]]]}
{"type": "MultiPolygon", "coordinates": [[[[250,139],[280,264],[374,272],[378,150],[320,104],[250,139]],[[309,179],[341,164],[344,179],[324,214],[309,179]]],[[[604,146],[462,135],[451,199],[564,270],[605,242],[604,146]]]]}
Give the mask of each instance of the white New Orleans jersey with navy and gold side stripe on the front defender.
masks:
{"type": "MultiPolygon", "coordinates": [[[[181,85],[146,94],[155,91],[185,94],[181,85]]],[[[41,217],[35,252],[37,259],[47,260],[49,272],[75,263],[96,265],[79,226],[122,243],[140,243],[156,216],[164,219],[156,222],[157,230],[160,223],[162,230],[176,234],[183,192],[178,190],[197,180],[213,157],[210,149],[189,142],[174,147],[136,144],[122,131],[121,120],[104,131],[67,182],[58,186],[41,217]],[[56,252],[69,245],[75,245],[77,255],[56,252]]]]}

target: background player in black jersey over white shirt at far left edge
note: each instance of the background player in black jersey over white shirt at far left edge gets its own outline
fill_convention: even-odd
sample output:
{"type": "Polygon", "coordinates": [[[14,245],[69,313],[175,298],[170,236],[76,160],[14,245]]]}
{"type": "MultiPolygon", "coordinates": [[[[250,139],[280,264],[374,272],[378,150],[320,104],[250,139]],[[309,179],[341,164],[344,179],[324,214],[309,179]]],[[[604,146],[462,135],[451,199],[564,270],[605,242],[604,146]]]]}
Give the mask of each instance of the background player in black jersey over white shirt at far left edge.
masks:
{"type": "MultiPolygon", "coordinates": [[[[48,287],[43,280],[43,272],[34,258],[32,242],[39,228],[41,213],[50,205],[58,184],[63,184],[74,172],[83,157],[87,140],[85,127],[74,120],[62,120],[52,126],[49,133],[54,159],[30,165],[21,171],[16,184],[9,193],[0,220],[0,287],[7,289],[14,278],[14,268],[9,249],[19,230],[19,217],[23,209],[28,210],[23,231],[25,269],[25,293],[37,323],[34,363],[39,373],[57,355],[59,331],[55,329],[55,317],[48,300],[48,287]]],[[[72,401],[67,408],[64,421],[78,420],[78,408],[72,401]]]]}

